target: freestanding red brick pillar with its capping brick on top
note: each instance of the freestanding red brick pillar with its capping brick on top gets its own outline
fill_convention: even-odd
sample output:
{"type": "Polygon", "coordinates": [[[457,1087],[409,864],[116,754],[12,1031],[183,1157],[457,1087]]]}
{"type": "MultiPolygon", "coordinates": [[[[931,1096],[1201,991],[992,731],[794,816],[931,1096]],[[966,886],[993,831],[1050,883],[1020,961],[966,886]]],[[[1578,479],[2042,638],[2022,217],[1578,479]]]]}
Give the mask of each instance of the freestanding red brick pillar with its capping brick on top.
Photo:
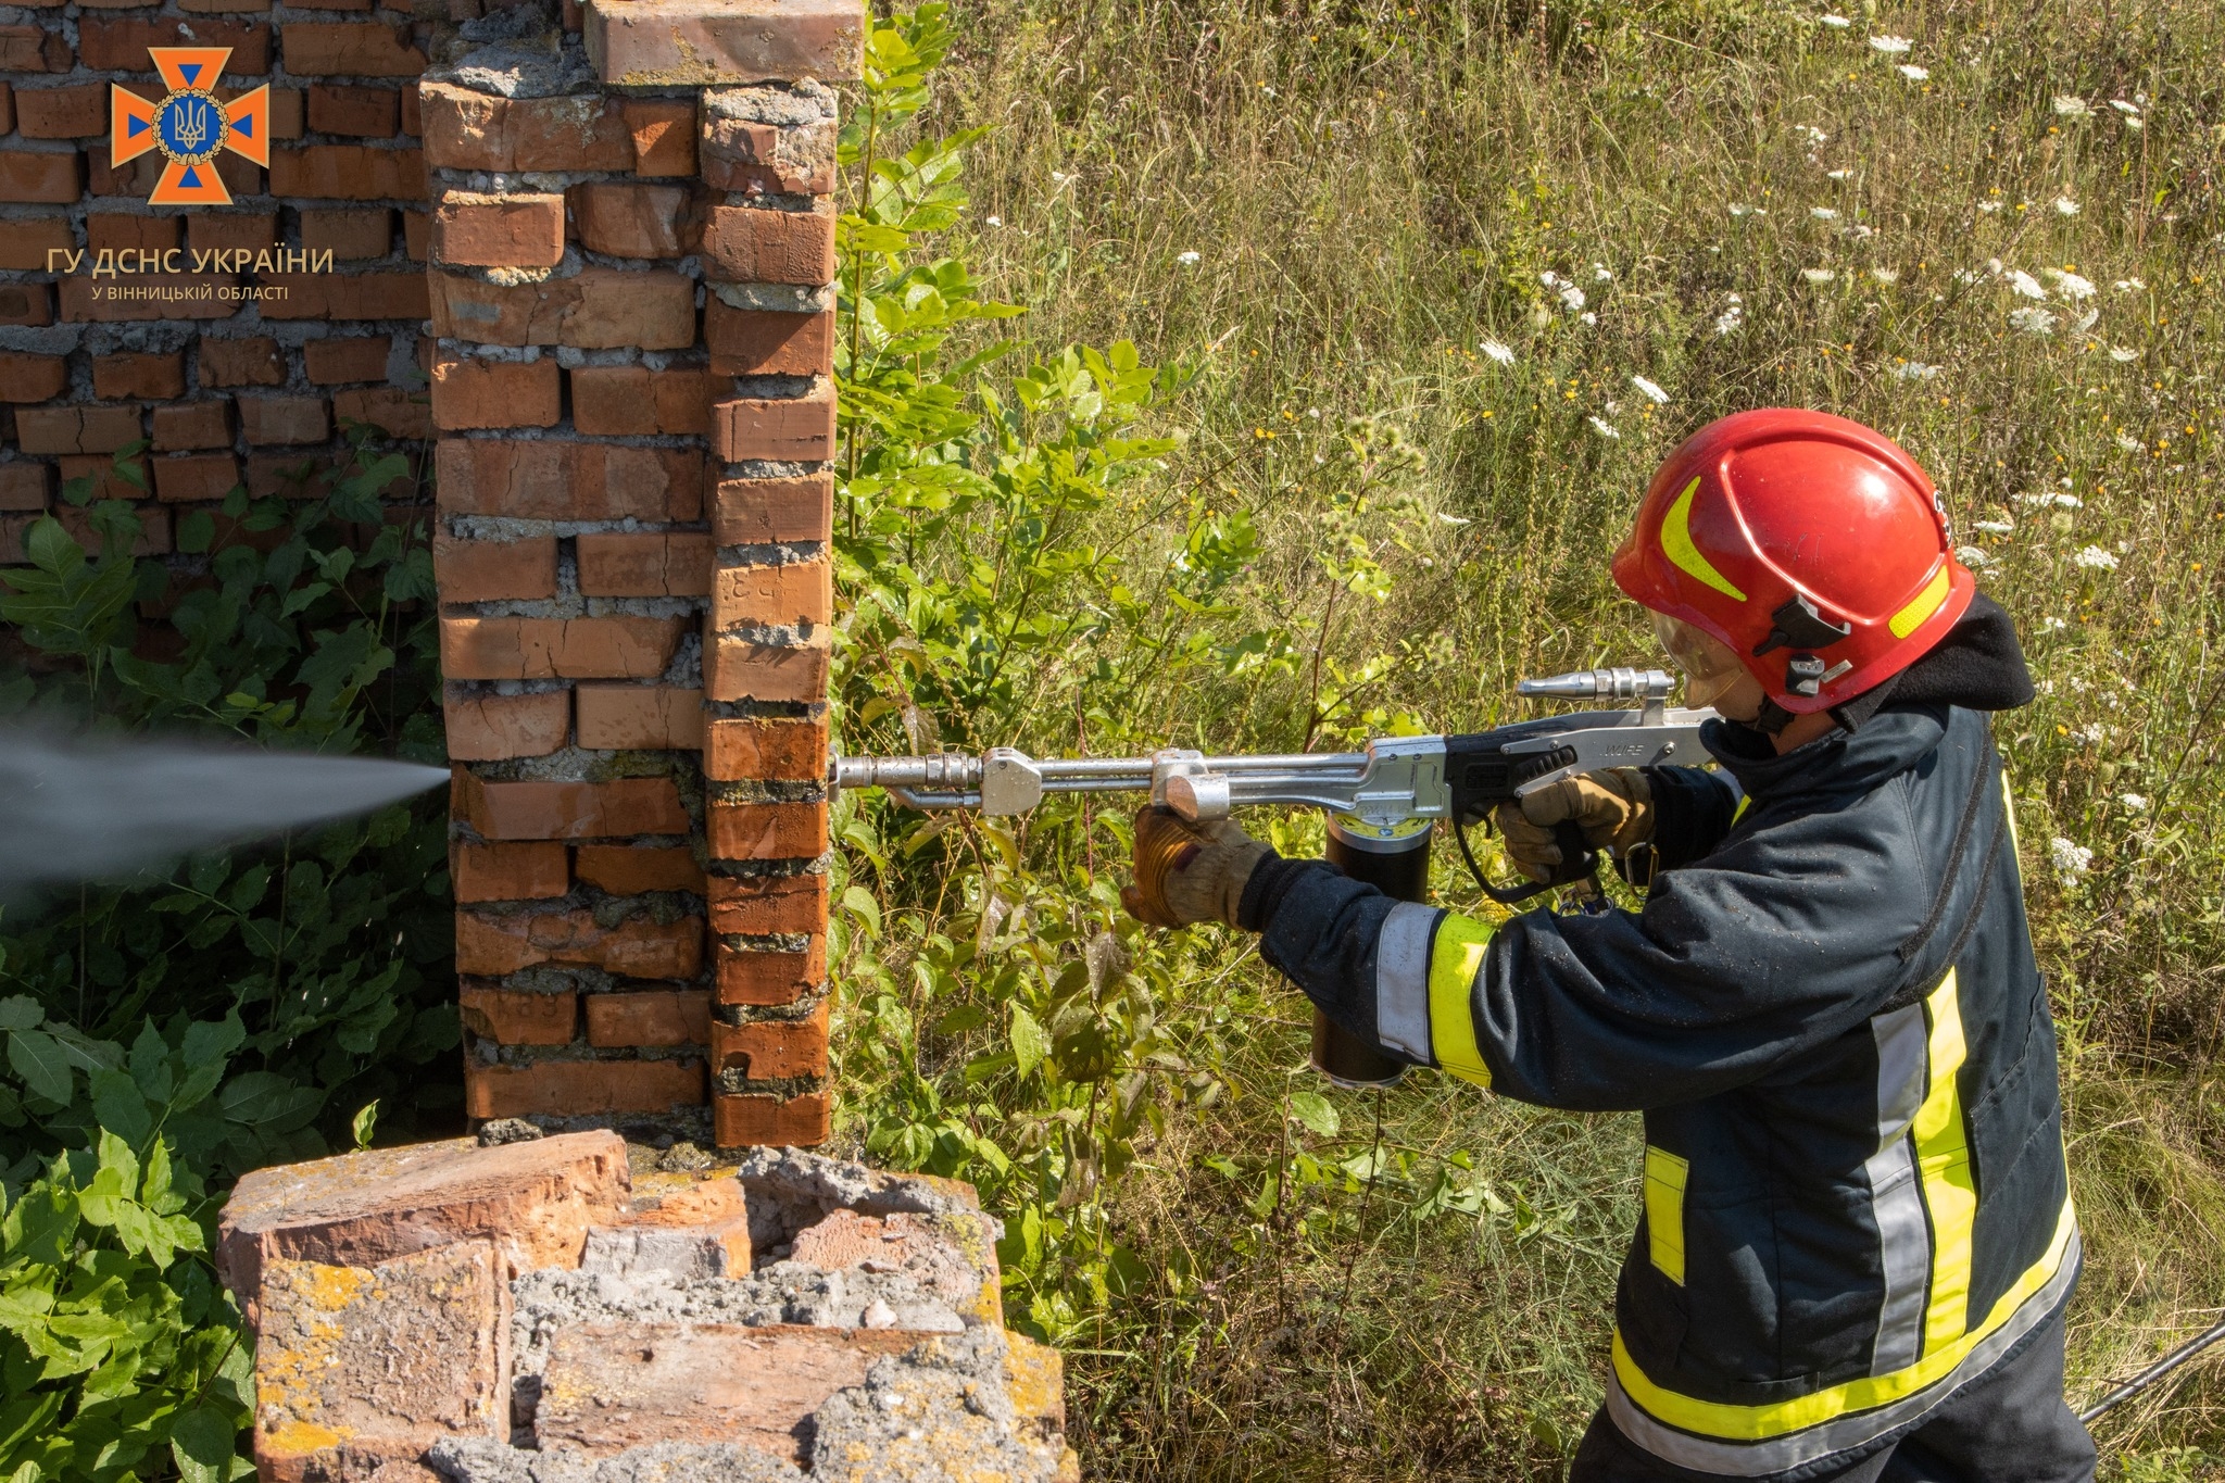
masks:
{"type": "Polygon", "coordinates": [[[467,1109],[819,1143],[859,9],[518,16],[421,107],[467,1109]]]}

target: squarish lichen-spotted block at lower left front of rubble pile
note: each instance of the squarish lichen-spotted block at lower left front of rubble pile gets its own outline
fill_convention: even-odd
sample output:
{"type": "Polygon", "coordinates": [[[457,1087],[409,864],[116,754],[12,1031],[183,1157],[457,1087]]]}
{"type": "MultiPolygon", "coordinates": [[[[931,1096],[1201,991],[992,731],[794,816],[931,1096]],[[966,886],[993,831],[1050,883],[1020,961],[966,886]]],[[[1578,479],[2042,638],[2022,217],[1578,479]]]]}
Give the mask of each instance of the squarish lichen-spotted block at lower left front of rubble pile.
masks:
{"type": "MultiPolygon", "coordinates": [[[[276,1256],[256,1336],[265,1483],[354,1483],[443,1436],[510,1436],[510,1314],[492,1241],[376,1267],[276,1256]]],[[[403,1470],[407,1472],[407,1470],[403,1470]]]]}

